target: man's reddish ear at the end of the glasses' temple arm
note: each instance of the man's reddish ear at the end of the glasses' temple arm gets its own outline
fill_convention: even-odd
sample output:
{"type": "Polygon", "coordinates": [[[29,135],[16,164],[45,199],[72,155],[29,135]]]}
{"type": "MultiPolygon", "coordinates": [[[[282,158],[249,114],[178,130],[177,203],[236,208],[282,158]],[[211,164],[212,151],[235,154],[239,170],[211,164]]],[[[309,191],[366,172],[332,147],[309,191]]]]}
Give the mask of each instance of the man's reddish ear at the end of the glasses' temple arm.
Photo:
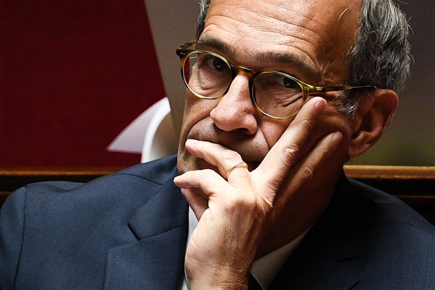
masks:
{"type": "Polygon", "coordinates": [[[347,151],[349,157],[365,153],[378,141],[389,126],[397,104],[396,92],[386,89],[377,89],[374,95],[360,100],[347,151]]]}

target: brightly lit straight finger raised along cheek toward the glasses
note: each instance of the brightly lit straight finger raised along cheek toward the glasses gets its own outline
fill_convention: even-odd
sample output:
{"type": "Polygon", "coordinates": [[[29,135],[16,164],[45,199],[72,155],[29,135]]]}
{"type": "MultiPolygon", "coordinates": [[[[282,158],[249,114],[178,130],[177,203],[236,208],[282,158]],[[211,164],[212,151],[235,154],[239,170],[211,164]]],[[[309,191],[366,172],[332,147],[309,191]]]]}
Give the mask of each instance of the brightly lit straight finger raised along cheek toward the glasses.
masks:
{"type": "Polygon", "coordinates": [[[300,150],[325,106],[325,99],[320,97],[314,97],[302,106],[296,118],[255,169],[254,175],[260,175],[264,180],[268,180],[269,186],[279,186],[291,166],[298,160],[300,150]]]}

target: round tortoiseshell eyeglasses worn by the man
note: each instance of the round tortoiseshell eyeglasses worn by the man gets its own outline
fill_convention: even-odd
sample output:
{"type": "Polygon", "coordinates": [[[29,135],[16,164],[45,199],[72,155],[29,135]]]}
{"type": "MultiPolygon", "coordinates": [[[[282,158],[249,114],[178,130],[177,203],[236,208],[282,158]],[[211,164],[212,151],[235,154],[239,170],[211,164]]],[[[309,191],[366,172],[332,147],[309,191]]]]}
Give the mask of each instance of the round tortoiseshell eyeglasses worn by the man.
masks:
{"type": "Polygon", "coordinates": [[[309,95],[347,91],[375,86],[311,86],[285,72],[276,70],[255,72],[208,50],[192,48],[196,41],[177,48],[181,74],[186,87],[201,99],[223,97],[233,79],[244,72],[249,77],[249,93],[255,107],[267,117],[289,119],[296,116],[309,95]]]}

